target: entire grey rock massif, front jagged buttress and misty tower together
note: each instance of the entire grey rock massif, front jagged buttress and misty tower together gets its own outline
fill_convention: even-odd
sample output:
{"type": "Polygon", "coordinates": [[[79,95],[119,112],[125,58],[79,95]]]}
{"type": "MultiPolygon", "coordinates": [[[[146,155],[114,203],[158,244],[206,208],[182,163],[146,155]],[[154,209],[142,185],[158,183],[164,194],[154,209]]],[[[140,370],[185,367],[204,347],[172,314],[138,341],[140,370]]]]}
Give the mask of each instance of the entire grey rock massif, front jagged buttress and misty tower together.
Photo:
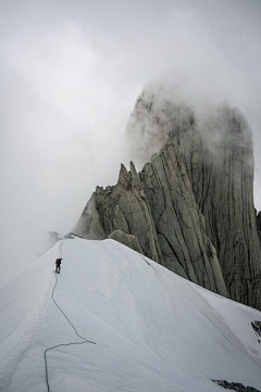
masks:
{"type": "Polygon", "coordinates": [[[134,235],[148,257],[261,309],[261,218],[253,207],[249,126],[227,105],[202,114],[162,91],[156,97],[139,97],[127,128],[138,144],[134,157],[150,162],[139,174],[122,165],[116,186],[97,188],[74,231],[86,238],[134,235]]]}

